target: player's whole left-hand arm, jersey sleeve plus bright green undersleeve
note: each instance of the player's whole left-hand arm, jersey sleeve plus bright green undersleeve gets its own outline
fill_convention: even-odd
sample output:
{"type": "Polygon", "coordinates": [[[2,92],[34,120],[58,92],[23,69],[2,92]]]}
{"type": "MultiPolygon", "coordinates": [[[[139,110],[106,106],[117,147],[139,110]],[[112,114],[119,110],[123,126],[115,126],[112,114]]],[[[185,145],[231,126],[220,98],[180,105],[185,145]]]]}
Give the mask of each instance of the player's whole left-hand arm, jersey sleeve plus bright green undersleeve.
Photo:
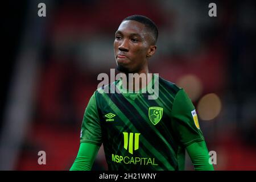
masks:
{"type": "Polygon", "coordinates": [[[94,92],[85,109],[81,126],[79,152],[70,170],[90,170],[101,143],[100,118],[98,117],[96,92],[94,92]]]}

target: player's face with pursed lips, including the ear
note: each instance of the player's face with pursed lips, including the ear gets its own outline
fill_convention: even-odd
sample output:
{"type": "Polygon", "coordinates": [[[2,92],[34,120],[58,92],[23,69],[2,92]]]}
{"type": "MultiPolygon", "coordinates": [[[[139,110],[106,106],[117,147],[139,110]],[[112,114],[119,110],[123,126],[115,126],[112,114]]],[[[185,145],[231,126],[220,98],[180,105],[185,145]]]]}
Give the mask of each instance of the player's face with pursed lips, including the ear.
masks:
{"type": "Polygon", "coordinates": [[[155,46],[150,45],[151,40],[144,24],[134,20],[122,22],[114,40],[117,69],[125,73],[139,73],[147,67],[148,57],[154,54],[152,47],[155,46]]]}

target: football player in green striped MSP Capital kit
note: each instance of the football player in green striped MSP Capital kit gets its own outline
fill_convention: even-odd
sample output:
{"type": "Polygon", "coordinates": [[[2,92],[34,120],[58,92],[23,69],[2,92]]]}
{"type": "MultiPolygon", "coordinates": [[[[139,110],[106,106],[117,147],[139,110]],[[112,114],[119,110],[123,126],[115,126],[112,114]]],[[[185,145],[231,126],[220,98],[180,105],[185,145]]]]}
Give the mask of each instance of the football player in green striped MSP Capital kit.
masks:
{"type": "MultiPolygon", "coordinates": [[[[150,73],[148,60],[157,39],[158,28],[146,16],[123,19],[114,40],[117,70],[124,75],[150,73]]],[[[131,93],[130,81],[120,78],[92,94],[70,170],[91,170],[101,144],[110,171],[184,170],[185,151],[195,170],[213,170],[195,106],[184,89],[153,74],[146,85],[139,84],[139,92],[131,93]],[[119,92],[108,92],[111,85],[119,92]],[[148,99],[148,85],[159,89],[155,99],[148,99]]]]}

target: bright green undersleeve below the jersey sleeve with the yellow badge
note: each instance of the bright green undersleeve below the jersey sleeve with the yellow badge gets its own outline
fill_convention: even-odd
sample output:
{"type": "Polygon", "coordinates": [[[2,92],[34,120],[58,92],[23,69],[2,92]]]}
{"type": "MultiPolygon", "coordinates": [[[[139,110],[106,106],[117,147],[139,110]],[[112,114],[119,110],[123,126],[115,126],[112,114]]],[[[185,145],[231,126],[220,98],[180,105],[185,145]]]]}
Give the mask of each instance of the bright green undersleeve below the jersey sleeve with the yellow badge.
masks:
{"type": "Polygon", "coordinates": [[[204,141],[189,144],[186,150],[196,171],[214,170],[212,164],[209,163],[209,152],[204,141]]]}

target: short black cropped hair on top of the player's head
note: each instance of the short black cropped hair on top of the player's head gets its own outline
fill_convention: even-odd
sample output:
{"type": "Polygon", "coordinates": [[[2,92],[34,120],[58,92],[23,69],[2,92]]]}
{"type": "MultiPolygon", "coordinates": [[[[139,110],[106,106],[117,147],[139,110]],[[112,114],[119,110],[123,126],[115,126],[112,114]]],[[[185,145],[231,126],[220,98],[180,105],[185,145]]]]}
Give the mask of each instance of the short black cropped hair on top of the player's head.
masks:
{"type": "Polygon", "coordinates": [[[135,20],[139,23],[144,24],[148,28],[148,30],[152,32],[154,44],[156,44],[156,41],[158,40],[158,27],[156,27],[156,24],[150,18],[143,15],[131,15],[123,19],[122,22],[126,20],[135,20]]]}

